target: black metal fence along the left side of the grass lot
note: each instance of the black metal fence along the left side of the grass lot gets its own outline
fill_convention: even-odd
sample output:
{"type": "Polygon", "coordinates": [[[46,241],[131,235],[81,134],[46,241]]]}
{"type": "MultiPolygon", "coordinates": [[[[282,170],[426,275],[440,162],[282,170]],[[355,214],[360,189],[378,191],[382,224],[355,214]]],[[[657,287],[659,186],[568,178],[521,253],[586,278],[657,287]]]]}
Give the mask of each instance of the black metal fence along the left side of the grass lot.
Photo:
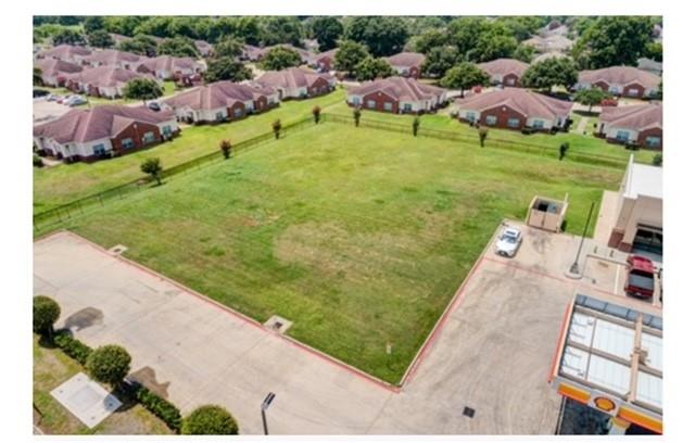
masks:
{"type": "MultiPolygon", "coordinates": [[[[280,136],[283,136],[290,131],[305,128],[306,126],[314,124],[314,117],[304,118],[285,126],[280,130],[280,136]]],[[[263,144],[266,141],[273,140],[275,132],[266,132],[257,137],[250,138],[233,145],[233,155],[248,152],[255,147],[263,144]]],[[[214,163],[224,161],[224,156],[219,149],[212,150],[208,154],[201,155],[185,163],[165,168],[161,173],[161,178],[173,177],[178,174],[189,173],[202,168],[214,163]]],[[[75,215],[84,214],[87,208],[93,206],[103,206],[106,201],[114,199],[123,199],[128,194],[136,193],[142,189],[152,186],[153,178],[151,176],[142,176],[136,180],[128,181],[114,188],[106,189],[105,191],[98,192],[91,195],[84,197],[78,200],[74,200],[70,203],[53,207],[48,211],[34,215],[34,229],[41,230],[54,224],[60,224],[75,215]]]]}

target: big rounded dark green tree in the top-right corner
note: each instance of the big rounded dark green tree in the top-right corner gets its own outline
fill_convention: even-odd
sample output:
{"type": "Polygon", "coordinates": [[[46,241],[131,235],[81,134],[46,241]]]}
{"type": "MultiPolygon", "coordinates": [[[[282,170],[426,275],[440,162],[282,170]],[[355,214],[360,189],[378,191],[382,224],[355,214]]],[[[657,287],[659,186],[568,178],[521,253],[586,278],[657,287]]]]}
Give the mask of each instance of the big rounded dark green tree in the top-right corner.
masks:
{"type": "Polygon", "coordinates": [[[646,16],[602,16],[582,33],[572,52],[582,68],[634,66],[647,53],[652,30],[646,16]]]}

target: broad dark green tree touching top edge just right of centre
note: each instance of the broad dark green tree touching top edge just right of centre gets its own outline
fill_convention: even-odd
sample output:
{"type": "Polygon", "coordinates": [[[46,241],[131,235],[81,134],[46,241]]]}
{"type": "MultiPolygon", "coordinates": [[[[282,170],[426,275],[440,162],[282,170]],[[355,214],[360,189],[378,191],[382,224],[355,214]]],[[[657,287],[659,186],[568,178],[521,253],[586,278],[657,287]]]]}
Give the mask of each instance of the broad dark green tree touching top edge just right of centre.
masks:
{"type": "Polygon", "coordinates": [[[345,38],[364,43],[375,56],[388,56],[403,50],[408,29],[402,17],[356,16],[348,22],[345,38]]]}

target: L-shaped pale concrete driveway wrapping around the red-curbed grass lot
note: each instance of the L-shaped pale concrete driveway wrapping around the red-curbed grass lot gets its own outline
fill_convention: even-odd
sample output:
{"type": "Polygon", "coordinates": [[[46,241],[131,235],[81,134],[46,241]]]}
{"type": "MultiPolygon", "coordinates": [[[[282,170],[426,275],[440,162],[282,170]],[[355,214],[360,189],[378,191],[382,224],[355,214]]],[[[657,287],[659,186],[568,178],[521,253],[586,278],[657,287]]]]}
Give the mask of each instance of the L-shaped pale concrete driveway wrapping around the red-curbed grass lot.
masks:
{"type": "Polygon", "coordinates": [[[563,315],[578,288],[607,289],[564,277],[578,238],[522,229],[514,260],[484,253],[401,389],[68,232],[35,242],[35,293],[54,296],[59,326],[87,344],[124,345],[135,377],[185,413],[222,404],[243,433],[263,432],[273,391],[270,433],[551,434],[563,315]]]}

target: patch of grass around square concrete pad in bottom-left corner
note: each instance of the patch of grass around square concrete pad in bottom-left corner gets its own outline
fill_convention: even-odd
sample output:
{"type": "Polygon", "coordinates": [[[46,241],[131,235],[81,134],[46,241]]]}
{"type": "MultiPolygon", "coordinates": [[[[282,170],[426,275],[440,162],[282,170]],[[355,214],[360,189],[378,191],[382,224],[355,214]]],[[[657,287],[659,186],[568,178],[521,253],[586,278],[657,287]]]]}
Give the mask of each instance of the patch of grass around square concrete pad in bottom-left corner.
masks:
{"type": "MultiPolygon", "coordinates": [[[[170,434],[162,420],[139,404],[124,404],[89,429],[53,396],[51,391],[85,369],[62,351],[45,347],[34,336],[34,407],[41,414],[39,428],[47,434],[170,434]]],[[[106,388],[108,389],[108,388],[106,388]]]]}

